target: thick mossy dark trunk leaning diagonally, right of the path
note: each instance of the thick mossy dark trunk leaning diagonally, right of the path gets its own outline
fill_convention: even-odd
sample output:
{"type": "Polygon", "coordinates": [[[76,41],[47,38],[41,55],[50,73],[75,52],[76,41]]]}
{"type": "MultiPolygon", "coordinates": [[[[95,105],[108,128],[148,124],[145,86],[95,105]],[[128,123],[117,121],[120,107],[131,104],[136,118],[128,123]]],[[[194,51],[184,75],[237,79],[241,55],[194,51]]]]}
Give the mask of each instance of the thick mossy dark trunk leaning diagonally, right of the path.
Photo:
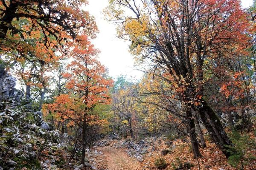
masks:
{"type": "Polygon", "coordinates": [[[215,144],[228,158],[231,155],[227,150],[227,146],[232,146],[233,144],[227,136],[220,119],[212,108],[204,100],[201,100],[201,103],[202,105],[198,109],[195,108],[195,111],[198,111],[204,126],[207,128],[215,144]]]}

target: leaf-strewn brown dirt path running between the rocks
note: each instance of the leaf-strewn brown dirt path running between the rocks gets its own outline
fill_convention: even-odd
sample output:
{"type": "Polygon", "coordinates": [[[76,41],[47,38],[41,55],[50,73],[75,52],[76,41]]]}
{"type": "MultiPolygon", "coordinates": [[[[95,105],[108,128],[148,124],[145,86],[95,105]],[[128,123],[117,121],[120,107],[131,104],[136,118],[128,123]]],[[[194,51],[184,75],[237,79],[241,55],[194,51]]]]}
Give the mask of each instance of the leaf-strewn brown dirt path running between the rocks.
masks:
{"type": "Polygon", "coordinates": [[[140,162],[129,157],[122,149],[99,147],[97,150],[103,153],[100,159],[104,166],[98,167],[99,170],[142,170],[140,162]]]}

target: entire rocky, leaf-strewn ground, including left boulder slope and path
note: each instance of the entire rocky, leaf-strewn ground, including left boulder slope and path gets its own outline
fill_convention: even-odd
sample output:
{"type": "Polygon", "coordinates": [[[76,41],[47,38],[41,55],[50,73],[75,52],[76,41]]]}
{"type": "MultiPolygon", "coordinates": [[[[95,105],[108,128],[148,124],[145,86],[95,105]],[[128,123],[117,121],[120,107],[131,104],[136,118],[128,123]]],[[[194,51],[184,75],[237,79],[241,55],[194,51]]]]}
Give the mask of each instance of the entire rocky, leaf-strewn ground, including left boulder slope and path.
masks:
{"type": "MultiPolygon", "coordinates": [[[[40,111],[32,112],[11,98],[0,99],[0,170],[157,170],[159,158],[166,161],[167,170],[236,169],[209,139],[201,149],[204,157],[193,159],[188,140],[155,136],[134,141],[112,135],[86,149],[85,165],[79,164],[79,154],[69,162],[67,134],[44,122],[40,111]]],[[[244,170],[256,170],[256,161],[244,170]]]]}

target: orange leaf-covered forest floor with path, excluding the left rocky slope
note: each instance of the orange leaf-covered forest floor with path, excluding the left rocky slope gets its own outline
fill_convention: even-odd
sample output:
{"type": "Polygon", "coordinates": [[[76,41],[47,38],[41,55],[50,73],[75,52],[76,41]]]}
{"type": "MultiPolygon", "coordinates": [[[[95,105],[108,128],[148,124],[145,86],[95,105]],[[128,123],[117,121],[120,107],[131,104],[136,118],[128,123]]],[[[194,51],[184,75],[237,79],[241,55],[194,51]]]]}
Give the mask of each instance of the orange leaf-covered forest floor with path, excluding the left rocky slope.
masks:
{"type": "MultiPolygon", "coordinates": [[[[193,154],[188,144],[181,139],[173,141],[171,146],[166,145],[166,139],[145,139],[144,147],[131,142],[124,143],[124,140],[104,140],[106,145],[96,146],[99,155],[94,159],[96,161],[96,167],[98,170],[157,170],[154,162],[158,158],[163,158],[167,162],[166,170],[186,170],[186,168],[180,168],[180,165],[192,164],[190,170],[236,170],[235,167],[231,167],[228,164],[227,159],[215,146],[214,143],[207,140],[207,148],[200,149],[203,157],[198,161],[193,159],[193,154]],[[136,159],[137,148],[141,147],[141,150],[147,150],[143,154],[143,159],[136,159]],[[163,155],[163,150],[169,150],[167,155],[163,155]],[[129,153],[129,154],[128,154],[129,153]],[[130,156],[129,156],[130,155],[130,156]]],[[[101,142],[102,143],[102,142],[101,142]]],[[[250,155],[255,155],[256,151],[251,150],[250,155]]],[[[246,164],[244,170],[256,170],[256,160],[250,161],[246,164]]]]}

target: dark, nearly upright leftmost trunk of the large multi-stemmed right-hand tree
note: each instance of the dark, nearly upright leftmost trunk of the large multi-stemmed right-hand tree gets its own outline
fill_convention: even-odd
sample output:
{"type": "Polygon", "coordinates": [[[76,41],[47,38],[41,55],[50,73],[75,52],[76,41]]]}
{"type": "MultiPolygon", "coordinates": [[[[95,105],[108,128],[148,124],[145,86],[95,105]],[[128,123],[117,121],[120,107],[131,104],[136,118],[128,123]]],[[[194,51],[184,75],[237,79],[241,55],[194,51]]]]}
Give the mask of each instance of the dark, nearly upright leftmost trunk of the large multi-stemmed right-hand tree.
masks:
{"type": "Polygon", "coordinates": [[[194,158],[198,158],[202,155],[199,150],[198,140],[196,138],[197,135],[195,133],[195,122],[194,122],[194,119],[192,118],[192,112],[191,112],[190,107],[186,108],[186,121],[188,123],[189,138],[191,141],[194,158]]]}

